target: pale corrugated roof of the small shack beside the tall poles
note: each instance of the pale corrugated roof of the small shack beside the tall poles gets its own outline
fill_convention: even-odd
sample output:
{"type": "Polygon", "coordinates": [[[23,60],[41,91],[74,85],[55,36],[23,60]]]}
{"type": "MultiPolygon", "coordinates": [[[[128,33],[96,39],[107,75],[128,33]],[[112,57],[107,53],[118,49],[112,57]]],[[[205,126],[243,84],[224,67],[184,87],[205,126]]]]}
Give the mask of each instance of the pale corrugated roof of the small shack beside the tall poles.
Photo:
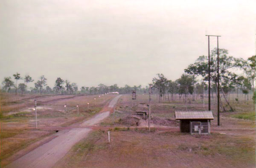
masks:
{"type": "Polygon", "coordinates": [[[213,120],[213,115],[211,111],[190,111],[190,112],[182,112],[182,111],[175,111],[175,118],[176,120],[180,119],[209,119],[213,120]]]}

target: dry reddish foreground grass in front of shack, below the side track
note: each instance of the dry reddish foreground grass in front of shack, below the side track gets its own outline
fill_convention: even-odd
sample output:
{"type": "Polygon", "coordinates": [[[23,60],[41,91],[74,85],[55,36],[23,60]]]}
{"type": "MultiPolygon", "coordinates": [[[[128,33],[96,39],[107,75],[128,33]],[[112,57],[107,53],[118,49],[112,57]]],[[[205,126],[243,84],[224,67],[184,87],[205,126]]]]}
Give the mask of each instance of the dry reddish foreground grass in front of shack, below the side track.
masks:
{"type": "Polygon", "coordinates": [[[221,134],[191,136],[127,129],[112,131],[109,144],[107,134],[96,131],[76,144],[56,168],[253,167],[253,144],[250,138],[221,134]]]}

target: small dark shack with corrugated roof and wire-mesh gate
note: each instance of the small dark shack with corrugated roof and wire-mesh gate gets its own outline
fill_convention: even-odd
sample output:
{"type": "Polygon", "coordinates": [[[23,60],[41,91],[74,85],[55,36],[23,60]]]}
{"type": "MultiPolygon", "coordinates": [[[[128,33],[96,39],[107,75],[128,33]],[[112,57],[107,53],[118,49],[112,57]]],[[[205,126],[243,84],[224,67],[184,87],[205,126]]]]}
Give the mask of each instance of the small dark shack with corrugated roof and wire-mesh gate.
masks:
{"type": "Polygon", "coordinates": [[[213,115],[211,111],[175,111],[175,119],[180,120],[180,132],[210,134],[210,123],[213,120],[213,115]]]}

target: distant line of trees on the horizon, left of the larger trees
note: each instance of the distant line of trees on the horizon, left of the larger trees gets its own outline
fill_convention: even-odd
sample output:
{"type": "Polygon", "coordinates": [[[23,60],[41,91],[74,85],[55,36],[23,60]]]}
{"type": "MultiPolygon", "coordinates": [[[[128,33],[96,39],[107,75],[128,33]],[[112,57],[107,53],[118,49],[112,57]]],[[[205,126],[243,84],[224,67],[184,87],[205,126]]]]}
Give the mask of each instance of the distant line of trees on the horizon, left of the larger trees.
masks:
{"type": "Polygon", "coordinates": [[[27,75],[24,78],[20,76],[20,73],[16,73],[13,75],[15,81],[12,81],[11,77],[5,77],[2,84],[2,89],[5,92],[20,92],[23,95],[26,93],[35,93],[42,95],[44,94],[105,94],[107,92],[119,92],[120,94],[128,94],[131,93],[132,90],[137,90],[139,93],[146,93],[147,88],[142,88],[141,85],[131,87],[129,85],[125,85],[125,87],[118,87],[117,84],[113,84],[111,86],[106,86],[104,84],[99,84],[98,87],[81,87],[80,90],[76,83],[71,83],[68,80],[63,80],[61,78],[57,78],[55,81],[55,85],[53,88],[47,86],[47,78],[44,75],[40,76],[39,80],[35,82],[35,87],[27,88],[27,84],[29,82],[33,82],[31,76],[27,75]],[[24,80],[23,83],[18,84],[19,80],[24,80]]]}

